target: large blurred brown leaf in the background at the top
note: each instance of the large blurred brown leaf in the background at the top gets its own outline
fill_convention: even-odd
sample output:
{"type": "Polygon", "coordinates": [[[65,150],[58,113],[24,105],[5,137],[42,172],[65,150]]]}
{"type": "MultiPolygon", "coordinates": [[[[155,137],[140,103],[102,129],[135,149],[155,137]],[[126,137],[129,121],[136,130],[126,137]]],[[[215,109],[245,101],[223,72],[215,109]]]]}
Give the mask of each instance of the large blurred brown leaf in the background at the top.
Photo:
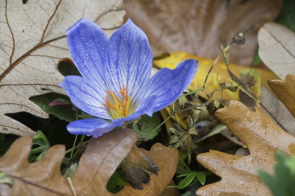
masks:
{"type": "Polygon", "coordinates": [[[257,22],[247,33],[246,44],[235,45],[231,51],[231,62],[241,65],[252,63],[258,29],[273,21],[282,7],[281,0],[125,1],[127,17],[146,32],[158,55],[184,50],[216,58],[221,44],[229,44],[237,32],[245,32],[257,22]]]}

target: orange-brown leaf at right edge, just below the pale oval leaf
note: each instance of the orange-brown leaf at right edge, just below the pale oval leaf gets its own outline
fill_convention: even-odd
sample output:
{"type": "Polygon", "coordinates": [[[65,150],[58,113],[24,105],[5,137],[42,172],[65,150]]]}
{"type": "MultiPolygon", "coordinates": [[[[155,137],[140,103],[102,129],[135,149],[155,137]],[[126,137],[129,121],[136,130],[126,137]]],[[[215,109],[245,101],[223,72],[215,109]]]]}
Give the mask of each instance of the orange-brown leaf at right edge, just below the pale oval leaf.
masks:
{"type": "Polygon", "coordinates": [[[285,81],[268,80],[267,83],[295,118],[295,75],[287,75],[285,81]]]}

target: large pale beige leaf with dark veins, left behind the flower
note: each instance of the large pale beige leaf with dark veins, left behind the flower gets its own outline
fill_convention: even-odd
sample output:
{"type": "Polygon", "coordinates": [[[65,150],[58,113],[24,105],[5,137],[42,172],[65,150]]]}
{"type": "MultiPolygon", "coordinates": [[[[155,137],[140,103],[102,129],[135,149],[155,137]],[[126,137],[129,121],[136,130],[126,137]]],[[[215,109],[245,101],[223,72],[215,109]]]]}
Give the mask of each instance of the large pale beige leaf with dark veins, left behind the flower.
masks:
{"type": "Polygon", "coordinates": [[[28,112],[49,117],[29,98],[50,92],[63,94],[58,64],[70,58],[66,29],[82,17],[102,28],[119,26],[124,12],[109,12],[108,6],[93,0],[29,0],[26,5],[22,0],[0,2],[0,133],[34,135],[29,127],[5,114],[28,112]]]}

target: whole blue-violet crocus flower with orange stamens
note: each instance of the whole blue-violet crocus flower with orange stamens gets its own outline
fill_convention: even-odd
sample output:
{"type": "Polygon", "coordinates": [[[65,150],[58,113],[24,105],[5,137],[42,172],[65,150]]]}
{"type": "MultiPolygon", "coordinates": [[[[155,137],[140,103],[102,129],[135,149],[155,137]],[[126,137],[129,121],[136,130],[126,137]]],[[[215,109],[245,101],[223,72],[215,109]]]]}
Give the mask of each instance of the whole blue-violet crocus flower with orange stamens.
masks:
{"type": "Polygon", "coordinates": [[[71,134],[98,137],[144,114],[151,117],[182,94],[198,67],[196,60],[185,60],[149,78],[148,38],[130,19],[108,39],[83,18],[67,30],[67,43],[83,77],[68,75],[60,86],[76,107],[97,117],[69,123],[71,134]]]}

